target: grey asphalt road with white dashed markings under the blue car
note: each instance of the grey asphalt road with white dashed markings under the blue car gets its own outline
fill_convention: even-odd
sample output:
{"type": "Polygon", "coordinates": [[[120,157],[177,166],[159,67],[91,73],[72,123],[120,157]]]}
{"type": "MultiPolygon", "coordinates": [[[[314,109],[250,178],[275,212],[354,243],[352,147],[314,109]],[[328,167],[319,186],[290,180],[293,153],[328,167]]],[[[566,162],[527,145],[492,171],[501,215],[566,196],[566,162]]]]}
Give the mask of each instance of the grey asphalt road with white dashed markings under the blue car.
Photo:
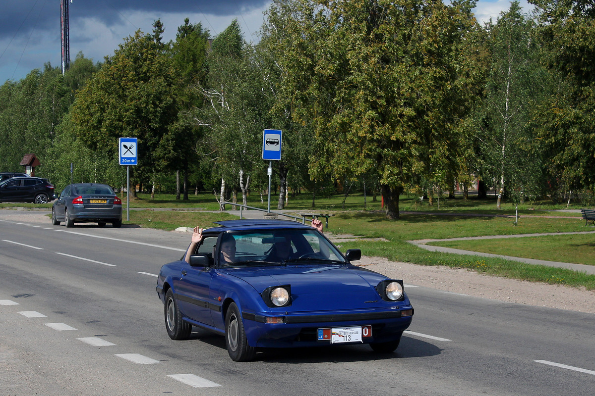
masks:
{"type": "Polygon", "coordinates": [[[415,285],[413,324],[393,354],[280,349],[237,363],[223,337],[170,340],[156,274],[188,239],[0,220],[2,394],[595,394],[595,315],[415,285]]]}

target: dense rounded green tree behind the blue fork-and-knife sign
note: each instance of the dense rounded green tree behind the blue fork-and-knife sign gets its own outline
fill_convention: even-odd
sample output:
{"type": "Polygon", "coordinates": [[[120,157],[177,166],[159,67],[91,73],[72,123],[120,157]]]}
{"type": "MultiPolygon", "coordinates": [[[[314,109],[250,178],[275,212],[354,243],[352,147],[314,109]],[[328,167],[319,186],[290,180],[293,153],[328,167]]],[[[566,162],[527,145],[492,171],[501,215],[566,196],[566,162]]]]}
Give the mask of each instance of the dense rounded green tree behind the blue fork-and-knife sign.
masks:
{"type": "Polygon", "coordinates": [[[177,107],[170,61],[154,36],[136,31],[79,91],[71,113],[86,147],[116,160],[118,138],[138,138],[138,180],[164,169],[177,107]]]}

